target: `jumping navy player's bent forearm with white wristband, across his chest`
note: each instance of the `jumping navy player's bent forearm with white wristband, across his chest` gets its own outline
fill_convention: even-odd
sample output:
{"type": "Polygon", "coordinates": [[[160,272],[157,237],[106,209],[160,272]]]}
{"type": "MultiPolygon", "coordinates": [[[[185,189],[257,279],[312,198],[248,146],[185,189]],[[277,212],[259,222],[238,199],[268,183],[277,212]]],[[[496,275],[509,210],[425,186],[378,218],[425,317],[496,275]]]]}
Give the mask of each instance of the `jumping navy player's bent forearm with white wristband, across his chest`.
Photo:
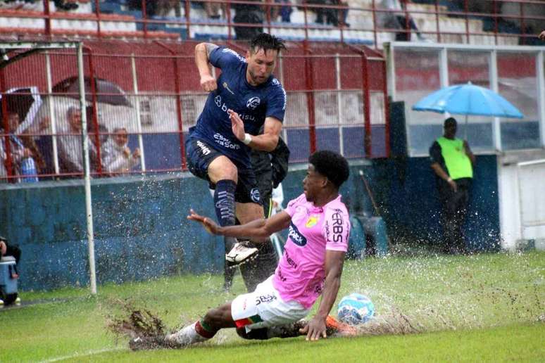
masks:
{"type": "MultiPolygon", "coordinates": [[[[246,139],[246,132],[244,132],[244,122],[240,118],[239,114],[233,110],[227,110],[229,118],[231,120],[231,127],[234,136],[240,141],[244,142],[246,139]]],[[[282,122],[276,117],[265,118],[265,126],[263,128],[263,134],[251,135],[249,138],[251,141],[248,146],[261,151],[273,151],[278,144],[278,138],[280,137],[280,131],[282,131],[282,122]]]]}

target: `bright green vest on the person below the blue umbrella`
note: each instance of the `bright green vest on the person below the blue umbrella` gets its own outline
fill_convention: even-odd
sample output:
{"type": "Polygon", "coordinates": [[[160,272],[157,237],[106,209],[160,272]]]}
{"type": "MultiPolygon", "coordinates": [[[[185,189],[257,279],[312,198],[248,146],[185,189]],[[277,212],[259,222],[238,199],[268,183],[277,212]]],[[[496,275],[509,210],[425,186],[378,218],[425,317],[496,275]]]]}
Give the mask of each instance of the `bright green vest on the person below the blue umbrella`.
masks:
{"type": "Polygon", "coordinates": [[[441,146],[441,155],[445,160],[446,170],[452,179],[472,178],[473,168],[471,160],[465,154],[462,139],[446,139],[441,136],[437,139],[441,146]]]}

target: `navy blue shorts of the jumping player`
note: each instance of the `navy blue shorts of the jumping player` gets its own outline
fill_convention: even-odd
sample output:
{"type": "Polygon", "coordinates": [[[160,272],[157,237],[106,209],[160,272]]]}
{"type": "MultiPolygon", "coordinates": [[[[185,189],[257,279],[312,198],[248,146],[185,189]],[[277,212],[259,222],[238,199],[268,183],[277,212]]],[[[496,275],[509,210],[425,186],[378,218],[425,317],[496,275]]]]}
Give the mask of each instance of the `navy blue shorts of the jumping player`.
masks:
{"type": "MultiPolygon", "coordinates": [[[[195,176],[208,181],[211,189],[215,189],[215,185],[208,178],[208,165],[215,158],[225,156],[215,148],[207,144],[206,141],[188,137],[185,141],[185,158],[189,171],[195,176]]],[[[230,159],[231,160],[231,159],[230,159]]],[[[244,165],[231,160],[237,167],[239,181],[237,182],[237,190],[234,192],[234,201],[238,203],[258,203],[262,205],[261,196],[257,186],[256,175],[253,170],[244,165]]]]}

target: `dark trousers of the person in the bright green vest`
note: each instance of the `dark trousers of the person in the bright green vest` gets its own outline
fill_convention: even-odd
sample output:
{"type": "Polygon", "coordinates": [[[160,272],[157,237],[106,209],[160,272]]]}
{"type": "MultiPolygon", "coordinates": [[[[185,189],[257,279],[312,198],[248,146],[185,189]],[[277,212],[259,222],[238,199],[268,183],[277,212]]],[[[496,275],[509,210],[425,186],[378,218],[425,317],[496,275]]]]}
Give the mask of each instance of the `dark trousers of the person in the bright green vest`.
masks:
{"type": "Polygon", "coordinates": [[[455,181],[458,184],[458,191],[453,191],[444,181],[441,181],[442,184],[439,186],[441,225],[444,238],[441,247],[445,253],[465,253],[467,250],[463,224],[468,215],[472,180],[463,178],[455,181]]]}

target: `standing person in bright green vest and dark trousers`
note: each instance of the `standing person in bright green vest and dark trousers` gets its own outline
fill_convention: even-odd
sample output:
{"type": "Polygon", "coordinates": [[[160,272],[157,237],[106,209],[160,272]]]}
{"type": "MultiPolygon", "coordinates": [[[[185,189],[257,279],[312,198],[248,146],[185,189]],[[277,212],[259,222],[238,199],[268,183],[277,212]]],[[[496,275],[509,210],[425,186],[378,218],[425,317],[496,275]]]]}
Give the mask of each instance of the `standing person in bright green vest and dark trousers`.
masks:
{"type": "Polygon", "coordinates": [[[445,253],[465,253],[467,245],[463,224],[468,212],[469,193],[473,180],[475,155],[468,141],[456,138],[457,122],[449,117],[444,134],[430,148],[432,170],[436,176],[441,202],[441,225],[445,253]]]}

